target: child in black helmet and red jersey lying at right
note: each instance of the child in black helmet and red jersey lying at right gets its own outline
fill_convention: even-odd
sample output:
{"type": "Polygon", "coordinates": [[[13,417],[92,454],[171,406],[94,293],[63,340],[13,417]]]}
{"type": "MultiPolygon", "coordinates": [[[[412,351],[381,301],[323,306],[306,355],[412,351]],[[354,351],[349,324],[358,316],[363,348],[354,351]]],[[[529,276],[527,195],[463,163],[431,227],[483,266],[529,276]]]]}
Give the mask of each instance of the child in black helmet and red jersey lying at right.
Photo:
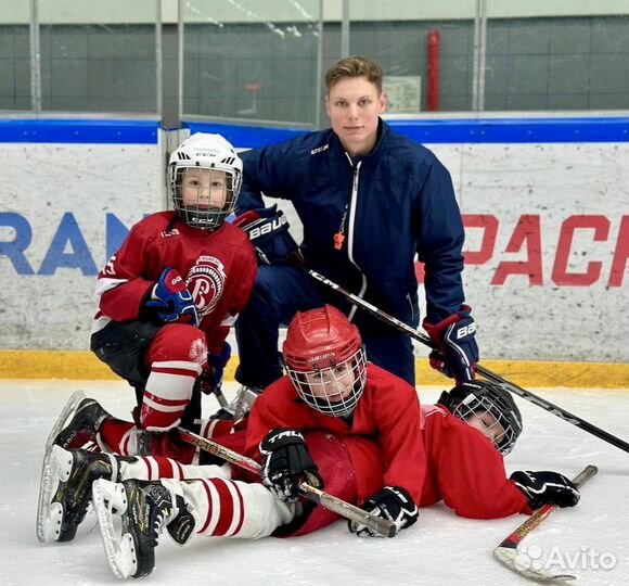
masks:
{"type": "Polygon", "coordinates": [[[575,485],[557,472],[506,476],[504,456],[523,425],[513,397],[499,384],[476,380],[444,392],[437,405],[422,407],[420,426],[427,456],[421,507],[442,500],[461,517],[497,519],[579,500],[575,485]]]}

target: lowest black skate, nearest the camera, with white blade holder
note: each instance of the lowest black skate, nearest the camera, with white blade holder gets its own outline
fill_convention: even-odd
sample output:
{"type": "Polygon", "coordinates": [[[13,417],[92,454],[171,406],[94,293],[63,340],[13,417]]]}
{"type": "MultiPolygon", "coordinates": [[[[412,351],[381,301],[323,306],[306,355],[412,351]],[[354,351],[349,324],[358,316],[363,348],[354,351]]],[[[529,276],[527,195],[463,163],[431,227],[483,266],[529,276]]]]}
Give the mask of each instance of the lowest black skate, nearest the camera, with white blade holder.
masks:
{"type": "Polygon", "coordinates": [[[161,482],[127,480],[116,484],[94,482],[93,502],[105,546],[107,562],[119,578],[149,575],[155,566],[157,538],[166,525],[170,535],[184,544],[194,528],[192,514],[183,498],[161,482]],[[121,534],[116,535],[114,515],[121,518],[121,534]]]}

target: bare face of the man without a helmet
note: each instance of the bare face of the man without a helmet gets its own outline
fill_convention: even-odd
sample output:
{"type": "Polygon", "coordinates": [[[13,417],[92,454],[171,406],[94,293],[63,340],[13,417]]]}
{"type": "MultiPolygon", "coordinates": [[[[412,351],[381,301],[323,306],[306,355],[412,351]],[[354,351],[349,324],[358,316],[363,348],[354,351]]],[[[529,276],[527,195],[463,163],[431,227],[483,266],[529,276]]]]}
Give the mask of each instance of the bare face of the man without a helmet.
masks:
{"type": "Polygon", "coordinates": [[[367,77],[346,77],[330,88],[325,110],[332,129],[351,156],[368,154],[377,139],[377,119],[386,97],[367,77]]]}

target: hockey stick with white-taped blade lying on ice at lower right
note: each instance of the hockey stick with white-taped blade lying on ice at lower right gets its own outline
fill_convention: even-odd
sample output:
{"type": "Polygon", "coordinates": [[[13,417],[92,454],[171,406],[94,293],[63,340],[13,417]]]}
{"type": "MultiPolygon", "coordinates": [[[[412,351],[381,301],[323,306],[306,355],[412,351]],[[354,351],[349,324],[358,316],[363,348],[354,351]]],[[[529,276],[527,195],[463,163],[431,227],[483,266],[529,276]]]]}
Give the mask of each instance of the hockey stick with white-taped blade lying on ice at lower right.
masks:
{"type": "MultiPolygon", "coordinates": [[[[580,488],[594,474],[599,472],[595,466],[587,466],[574,480],[575,485],[580,488]]],[[[572,574],[551,574],[543,569],[536,569],[528,557],[524,557],[517,551],[518,544],[536,527],[543,523],[553,512],[557,510],[556,505],[544,505],[519,525],[509,537],[493,550],[493,557],[503,565],[522,576],[536,579],[538,582],[568,582],[577,579],[572,574]]]]}

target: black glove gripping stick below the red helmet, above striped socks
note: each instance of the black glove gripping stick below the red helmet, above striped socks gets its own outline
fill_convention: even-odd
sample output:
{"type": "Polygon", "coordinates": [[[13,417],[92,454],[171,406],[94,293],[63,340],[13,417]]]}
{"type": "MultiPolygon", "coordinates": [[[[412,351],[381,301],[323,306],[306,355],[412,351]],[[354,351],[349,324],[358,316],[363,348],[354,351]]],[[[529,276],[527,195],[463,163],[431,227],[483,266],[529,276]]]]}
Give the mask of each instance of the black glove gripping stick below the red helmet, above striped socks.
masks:
{"type": "Polygon", "coordinates": [[[323,479],[298,431],[282,428],[270,431],[260,442],[260,454],[262,484],[280,500],[295,502],[300,482],[323,488],[323,479]]]}

